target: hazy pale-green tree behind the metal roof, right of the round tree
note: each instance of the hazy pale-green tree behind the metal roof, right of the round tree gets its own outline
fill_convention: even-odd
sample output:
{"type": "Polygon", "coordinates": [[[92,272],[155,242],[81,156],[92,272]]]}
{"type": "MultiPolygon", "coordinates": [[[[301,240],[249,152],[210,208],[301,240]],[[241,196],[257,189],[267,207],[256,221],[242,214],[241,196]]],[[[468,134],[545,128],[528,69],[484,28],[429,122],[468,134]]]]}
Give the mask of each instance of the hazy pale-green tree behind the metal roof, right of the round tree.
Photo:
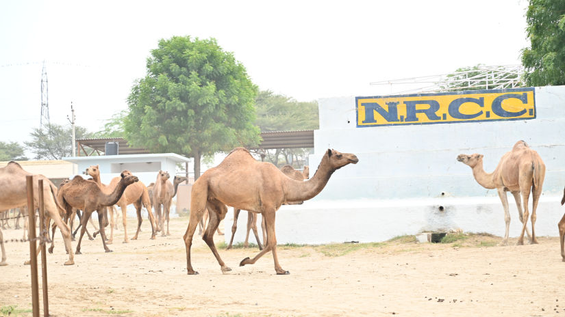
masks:
{"type": "MultiPolygon", "coordinates": [[[[261,131],[314,130],[319,126],[318,102],[298,102],[287,96],[274,94],[271,91],[261,91],[255,100],[257,124],[261,131]]],[[[257,151],[255,151],[257,152],[257,151]]],[[[281,148],[266,150],[267,161],[279,166],[290,164],[288,158],[305,156],[308,149],[281,148]]]]}

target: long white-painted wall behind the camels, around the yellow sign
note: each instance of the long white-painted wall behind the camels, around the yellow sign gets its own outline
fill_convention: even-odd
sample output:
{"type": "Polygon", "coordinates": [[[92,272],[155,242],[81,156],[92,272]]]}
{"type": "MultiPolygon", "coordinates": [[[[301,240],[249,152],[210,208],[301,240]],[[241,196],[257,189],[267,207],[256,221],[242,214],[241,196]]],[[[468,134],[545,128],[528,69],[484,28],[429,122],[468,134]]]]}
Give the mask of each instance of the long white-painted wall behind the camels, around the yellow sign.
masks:
{"type": "MultiPolygon", "coordinates": [[[[484,169],[490,172],[520,139],[542,156],[547,167],[536,233],[557,236],[557,222],[565,211],[559,204],[565,186],[565,86],[536,87],[535,96],[533,120],[365,128],[356,127],[355,97],[318,100],[320,129],[314,131],[310,175],[327,148],[354,153],[360,161],[336,171],[314,199],[301,206],[282,206],[277,212],[277,241],[381,241],[451,229],[501,236],[504,212],[497,191],[477,184],[470,167],[455,158],[484,154],[484,169]]],[[[509,202],[510,236],[518,236],[512,195],[509,202]]],[[[228,232],[230,218],[231,211],[228,232]]],[[[244,238],[245,217],[240,218],[236,241],[244,238]]]]}

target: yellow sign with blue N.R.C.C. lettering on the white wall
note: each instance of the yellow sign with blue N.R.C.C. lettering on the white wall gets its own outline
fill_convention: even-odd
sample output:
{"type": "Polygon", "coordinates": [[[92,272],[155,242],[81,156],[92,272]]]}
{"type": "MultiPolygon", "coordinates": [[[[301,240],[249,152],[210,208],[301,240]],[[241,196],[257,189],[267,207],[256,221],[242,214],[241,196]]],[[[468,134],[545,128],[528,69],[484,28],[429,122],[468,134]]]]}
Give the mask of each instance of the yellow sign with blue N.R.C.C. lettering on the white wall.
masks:
{"type": "Polygon", "coordinates": [[[356,97],[357,127],[536,118],[533,87],[356,97]]]}

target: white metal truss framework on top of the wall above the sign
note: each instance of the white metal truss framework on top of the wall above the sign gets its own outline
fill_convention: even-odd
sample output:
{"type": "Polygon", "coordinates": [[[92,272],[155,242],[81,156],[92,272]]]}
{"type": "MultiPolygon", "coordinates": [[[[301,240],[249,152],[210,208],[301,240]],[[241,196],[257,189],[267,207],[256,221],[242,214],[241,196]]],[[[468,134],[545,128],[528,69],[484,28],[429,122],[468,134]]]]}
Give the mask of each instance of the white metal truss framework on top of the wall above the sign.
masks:
{"type": "Polygon", "coordinates": [[[411,87],[394,94],[450,92],[464,89],[505,89],[522,87],[523,67],[521,65],[473,66],[468,70],[390,81],[375,81],[369,85],[390,85],[392,94],[395,85],[411,87]]]}

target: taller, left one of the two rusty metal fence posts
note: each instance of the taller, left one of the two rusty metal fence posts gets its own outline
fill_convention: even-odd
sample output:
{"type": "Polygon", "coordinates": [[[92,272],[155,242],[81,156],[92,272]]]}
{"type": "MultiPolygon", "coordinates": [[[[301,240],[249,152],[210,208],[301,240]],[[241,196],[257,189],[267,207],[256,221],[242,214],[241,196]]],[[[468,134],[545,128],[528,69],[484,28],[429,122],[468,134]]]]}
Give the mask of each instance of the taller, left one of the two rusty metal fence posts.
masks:
{"type": "Polygon", "coordinates": [[[39,286],[37,281],[36,208],[34,208],[34,176],[25,176],[27,184],[27,218],[29,219],[29,264],[32,267],[32,305],[34,317],[39,317],[39,286]]]}

